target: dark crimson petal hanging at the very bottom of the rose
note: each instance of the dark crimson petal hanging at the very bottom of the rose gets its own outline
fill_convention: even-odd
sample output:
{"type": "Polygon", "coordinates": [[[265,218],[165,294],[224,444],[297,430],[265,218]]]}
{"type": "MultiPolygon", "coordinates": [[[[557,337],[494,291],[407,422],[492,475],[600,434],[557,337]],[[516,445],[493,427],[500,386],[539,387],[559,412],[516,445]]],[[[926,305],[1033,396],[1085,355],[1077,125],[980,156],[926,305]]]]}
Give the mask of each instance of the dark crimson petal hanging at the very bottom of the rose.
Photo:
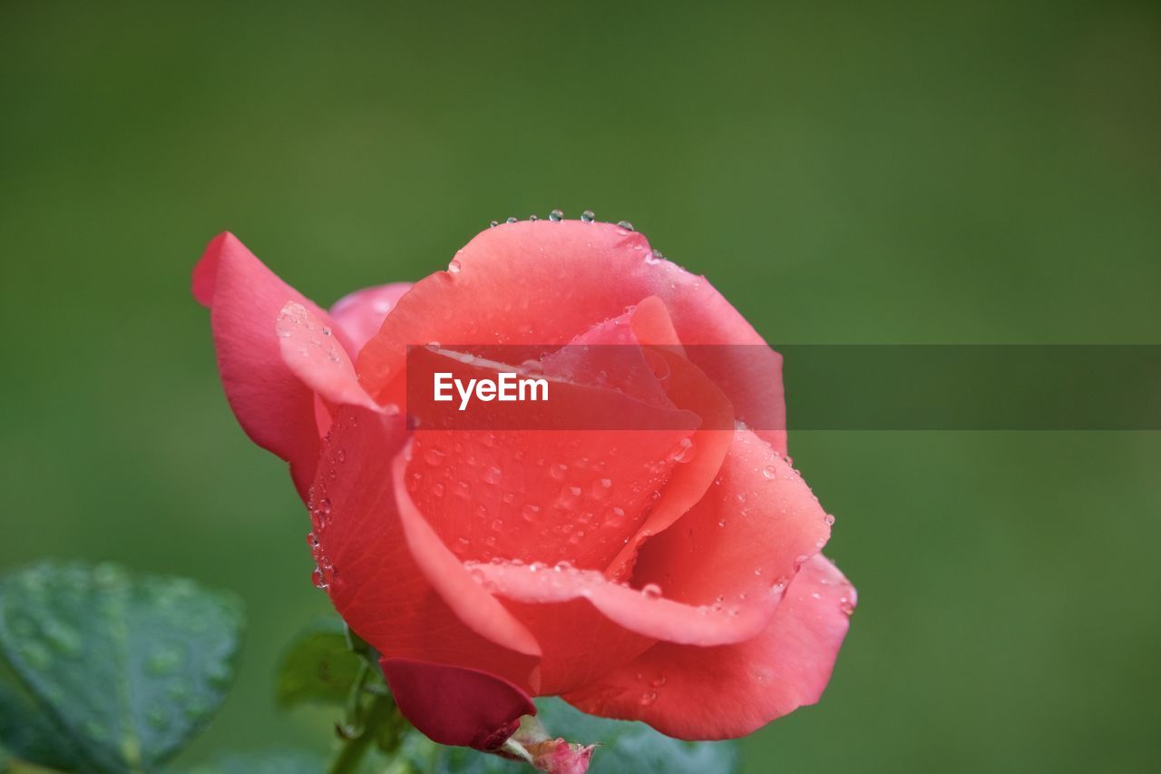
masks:
{"type": "Polygon", "coordinates": [[[403,716],[441,745],[495,750],[524,715],[535,715],[528,695],[478,669],[382,659],[383,674],[403,716]]]}

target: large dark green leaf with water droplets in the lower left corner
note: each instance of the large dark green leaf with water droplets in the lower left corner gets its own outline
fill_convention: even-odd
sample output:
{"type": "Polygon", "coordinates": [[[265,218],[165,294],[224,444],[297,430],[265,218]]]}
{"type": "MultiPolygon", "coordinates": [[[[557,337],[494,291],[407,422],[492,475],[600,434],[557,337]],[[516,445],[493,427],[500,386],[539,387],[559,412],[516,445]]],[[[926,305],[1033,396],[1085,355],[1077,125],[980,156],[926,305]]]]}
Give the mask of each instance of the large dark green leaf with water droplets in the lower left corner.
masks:
{"type": "Polygon", "coordinates": [[[222,702],[240,626],[230,594],[110,564],[0,579],[0,654],[84,771],[147,772],[174,753],[222,702]]]}

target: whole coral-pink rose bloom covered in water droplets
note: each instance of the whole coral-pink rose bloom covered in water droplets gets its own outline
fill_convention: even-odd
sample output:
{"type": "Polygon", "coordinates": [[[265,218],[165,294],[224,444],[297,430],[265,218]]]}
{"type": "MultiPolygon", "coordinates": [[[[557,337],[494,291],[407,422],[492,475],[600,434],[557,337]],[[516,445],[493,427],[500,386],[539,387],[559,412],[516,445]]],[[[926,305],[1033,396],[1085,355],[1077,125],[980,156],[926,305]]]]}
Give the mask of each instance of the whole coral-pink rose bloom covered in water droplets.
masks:
{"type": "Polygon", "coordinates": [[[628,224],[500,224],[447,271],[330,311],[223,234],[193,293],[238,422],[310,509],[316,585],[432,739],[496,748],[532,696],[682,739],[819,700],[854,589],[820,553],[834,519],[786,458],[780,357],[628,224]],[[582,344],[649,368],[589,378],[562,365],[582,344]],[[538,353],[569,411],[693,421],[417,421],[409,352],[461,363],[489,346],[538,353]]]}

